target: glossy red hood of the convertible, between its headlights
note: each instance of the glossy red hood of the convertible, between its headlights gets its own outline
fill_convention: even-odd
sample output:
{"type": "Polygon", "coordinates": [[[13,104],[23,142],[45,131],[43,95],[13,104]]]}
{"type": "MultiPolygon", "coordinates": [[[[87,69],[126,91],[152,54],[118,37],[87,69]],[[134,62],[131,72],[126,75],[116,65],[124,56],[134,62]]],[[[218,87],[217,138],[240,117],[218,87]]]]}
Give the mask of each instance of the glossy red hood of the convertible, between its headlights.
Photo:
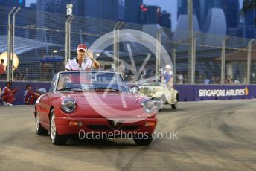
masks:
{"type": "Polygon", "coordinates": [[[84,92],[65,97],[77,102],[73,117],[149,117],[141,107],[142,98],[134,94],[84,92]]]}

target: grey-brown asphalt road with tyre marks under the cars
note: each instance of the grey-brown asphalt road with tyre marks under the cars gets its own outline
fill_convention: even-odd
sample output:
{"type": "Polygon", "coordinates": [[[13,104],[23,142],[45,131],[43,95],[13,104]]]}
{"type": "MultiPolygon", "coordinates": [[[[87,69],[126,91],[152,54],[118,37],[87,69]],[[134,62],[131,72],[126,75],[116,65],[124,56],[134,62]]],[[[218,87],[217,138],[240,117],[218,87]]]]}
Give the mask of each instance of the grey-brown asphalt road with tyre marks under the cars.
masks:
{"type": "Polygon", "coordinates": [[[150,146],[124,139],[54,146],[36,135],[33,106],[1,106],[0,170],[256,170],[255,103],[201,101],[163,109],[156,132],[169,136],[159,133],[150,146]]]}

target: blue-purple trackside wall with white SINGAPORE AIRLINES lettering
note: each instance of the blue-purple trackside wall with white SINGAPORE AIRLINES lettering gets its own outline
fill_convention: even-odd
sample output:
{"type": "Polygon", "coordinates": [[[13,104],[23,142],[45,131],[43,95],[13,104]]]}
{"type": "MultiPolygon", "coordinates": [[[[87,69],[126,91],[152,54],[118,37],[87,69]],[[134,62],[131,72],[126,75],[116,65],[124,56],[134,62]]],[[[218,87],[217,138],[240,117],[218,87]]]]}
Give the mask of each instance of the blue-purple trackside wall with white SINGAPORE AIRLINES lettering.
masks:
{"type": "MultiPolygon", "coordinates": [[[[39,82],[13,82],[12,88],[19,88],[16,93],[14,105],[22,105],[26,84],[33,86],[32,91],[35,91],[36,86],[46,88],[48,91],[51,83],[39,82]]],[[[0,82],[0,87],[3,89],[5,82],[0,82]]],[[[199,101],[199,100],[234,100],[234,99],[252,99],[256,98],[256,85],[174,85],[174,88],[179,91],[179,101],[199,101]]]]}

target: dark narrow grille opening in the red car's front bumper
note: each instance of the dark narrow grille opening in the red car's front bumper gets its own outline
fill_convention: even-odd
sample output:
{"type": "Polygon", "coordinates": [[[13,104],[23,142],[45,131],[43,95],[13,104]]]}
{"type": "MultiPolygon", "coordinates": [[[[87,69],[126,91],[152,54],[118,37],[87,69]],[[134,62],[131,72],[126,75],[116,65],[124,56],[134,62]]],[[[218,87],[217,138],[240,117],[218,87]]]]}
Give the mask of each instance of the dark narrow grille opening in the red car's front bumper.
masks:
{"type": "Polygon", "coordinates": [[[89,129],[95,131],[111,131],[111,130],[119,130],[119,131],[135,131],[139,129],[140,126],[121,126],[118,129],[112,128],[106,125],[88,125],[89,129]]]}

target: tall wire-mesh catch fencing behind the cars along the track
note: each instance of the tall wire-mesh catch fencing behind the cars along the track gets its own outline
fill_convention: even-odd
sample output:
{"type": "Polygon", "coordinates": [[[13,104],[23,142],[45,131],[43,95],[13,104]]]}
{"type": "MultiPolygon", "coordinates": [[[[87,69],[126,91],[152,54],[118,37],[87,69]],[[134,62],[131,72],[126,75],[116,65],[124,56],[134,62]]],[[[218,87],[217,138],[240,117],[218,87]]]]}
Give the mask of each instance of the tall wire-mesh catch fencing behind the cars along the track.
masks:
{"type": "Polygon", "coordinates": [[[171,65],[177,84],[256,84],[255,39],[13,7],[0,7],[0,80],[51,82],[79,43],[100,71],[118,71],[127,83],[160,80],[171,65]]]}

